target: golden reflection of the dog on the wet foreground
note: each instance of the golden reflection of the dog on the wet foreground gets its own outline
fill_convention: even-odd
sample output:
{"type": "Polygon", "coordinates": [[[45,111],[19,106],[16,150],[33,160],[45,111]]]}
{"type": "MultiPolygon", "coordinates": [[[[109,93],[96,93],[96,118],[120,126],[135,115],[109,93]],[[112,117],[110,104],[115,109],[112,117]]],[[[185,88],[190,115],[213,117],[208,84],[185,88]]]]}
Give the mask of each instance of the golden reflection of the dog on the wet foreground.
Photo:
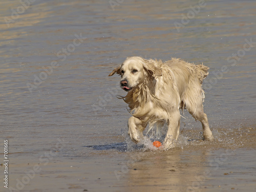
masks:
{"type": "Polygon", "coordinates": [[[209,152],[181,150],[154,153],[132,164],[129,172],[129,188],[146,191],[186,191],[195,176],[207,176],[205,164],[209,152]]]}

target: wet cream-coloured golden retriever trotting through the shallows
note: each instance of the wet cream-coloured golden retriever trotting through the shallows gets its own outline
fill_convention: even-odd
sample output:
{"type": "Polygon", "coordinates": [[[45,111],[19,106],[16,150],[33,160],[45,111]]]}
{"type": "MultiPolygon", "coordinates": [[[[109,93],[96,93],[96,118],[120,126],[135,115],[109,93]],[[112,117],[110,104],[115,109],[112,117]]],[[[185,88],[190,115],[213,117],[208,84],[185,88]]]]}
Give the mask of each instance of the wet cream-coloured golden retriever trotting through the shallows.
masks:
{"type": "Polygon", "coordinates": [[[128,120],[129,135],[135,143],[143,140],[147,124],[168,125],[160,147],[173,147],[180,133],[180,111],[187,111],[203,126],[203,137],[212,141],[207,115],[203,110],[204,91],[201,84],[208,75],[208,67],[194,65],[181,59],[161,60],[129,57],[109,76],[121,75],[120,87],[127,92],[121,97],[128,105],[132,117],[128,120]]]}

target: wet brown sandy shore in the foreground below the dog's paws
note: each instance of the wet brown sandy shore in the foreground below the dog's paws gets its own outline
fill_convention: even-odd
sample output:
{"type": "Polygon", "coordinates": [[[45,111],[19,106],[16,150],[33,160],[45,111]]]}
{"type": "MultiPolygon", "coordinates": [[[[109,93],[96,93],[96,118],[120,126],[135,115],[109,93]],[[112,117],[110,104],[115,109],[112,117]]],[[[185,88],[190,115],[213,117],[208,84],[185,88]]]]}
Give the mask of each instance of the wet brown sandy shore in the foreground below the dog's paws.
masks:
{"type": "Polygon", "coordinates": [[[218,129],[214,142],[187,138],[200,135],[197,131],[183,131],[164,152],[127,139],[83,146],[89,149],[86,156],[61,157],[62,146],[38,159],[10,153],[19,158],[10,158],[9,183],[13,191],[254,191],[256,130],[218,129]]]}

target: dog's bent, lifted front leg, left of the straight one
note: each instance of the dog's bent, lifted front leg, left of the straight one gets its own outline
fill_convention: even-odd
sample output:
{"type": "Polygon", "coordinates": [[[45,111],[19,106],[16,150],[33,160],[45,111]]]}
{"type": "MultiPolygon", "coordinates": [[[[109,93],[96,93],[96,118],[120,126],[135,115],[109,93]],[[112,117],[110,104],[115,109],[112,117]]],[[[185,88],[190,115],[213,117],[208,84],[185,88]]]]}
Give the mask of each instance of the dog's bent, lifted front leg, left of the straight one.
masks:
{"type": "Polygon", "coordinates": [[[146,123],[143,123],[136,117],[130,117],[128,120],[128,127],[131,139],[133,142],[138,143],[143,138],[143,131],[146,127],[146,123]]]}

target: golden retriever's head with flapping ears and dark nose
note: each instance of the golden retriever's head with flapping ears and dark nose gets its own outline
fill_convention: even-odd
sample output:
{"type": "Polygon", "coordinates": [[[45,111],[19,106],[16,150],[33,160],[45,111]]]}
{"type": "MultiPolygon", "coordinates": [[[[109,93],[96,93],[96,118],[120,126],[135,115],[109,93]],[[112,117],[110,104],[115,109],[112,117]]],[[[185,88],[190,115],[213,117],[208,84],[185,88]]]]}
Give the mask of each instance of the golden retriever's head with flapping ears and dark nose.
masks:
{"type": "Polygon", "coordinates": [[[121,75],[120,87],[127,92],[141,84],[148,76],[162,76],[161,68],[141,57],[126,58],[109,76],[115,73],[121,75]]]}

